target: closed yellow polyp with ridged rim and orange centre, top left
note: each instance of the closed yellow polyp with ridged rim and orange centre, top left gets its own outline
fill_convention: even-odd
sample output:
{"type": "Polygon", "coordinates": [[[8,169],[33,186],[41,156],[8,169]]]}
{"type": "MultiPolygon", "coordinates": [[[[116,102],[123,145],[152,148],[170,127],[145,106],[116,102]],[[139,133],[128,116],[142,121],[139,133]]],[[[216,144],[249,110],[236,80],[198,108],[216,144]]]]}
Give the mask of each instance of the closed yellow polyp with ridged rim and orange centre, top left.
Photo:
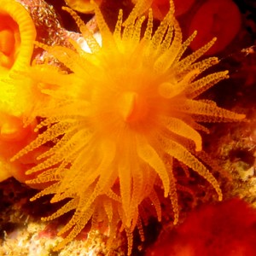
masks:
{"type": "Polygon", "coordinates": [[[0,66],[20,69],[32,56],[36,30],[26,9],[15,0],[1,0],[0,66]]]}

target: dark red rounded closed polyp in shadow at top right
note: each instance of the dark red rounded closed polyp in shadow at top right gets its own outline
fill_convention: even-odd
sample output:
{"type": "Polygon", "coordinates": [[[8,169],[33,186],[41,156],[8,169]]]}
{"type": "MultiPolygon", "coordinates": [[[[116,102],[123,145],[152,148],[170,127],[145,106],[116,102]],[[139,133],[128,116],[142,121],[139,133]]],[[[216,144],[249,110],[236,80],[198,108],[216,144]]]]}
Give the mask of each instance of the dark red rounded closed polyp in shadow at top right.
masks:
{"type": "Polygon", "coordinates": [[[198,32],[190,47],[198,49],[210,38],[217,37],[216,44],[207,51],[207,55],[217,54],[232,42],[240,28],[241,13],[234,1],[209,0],[201,5],[190,22],[189,32],[198,32]]]}

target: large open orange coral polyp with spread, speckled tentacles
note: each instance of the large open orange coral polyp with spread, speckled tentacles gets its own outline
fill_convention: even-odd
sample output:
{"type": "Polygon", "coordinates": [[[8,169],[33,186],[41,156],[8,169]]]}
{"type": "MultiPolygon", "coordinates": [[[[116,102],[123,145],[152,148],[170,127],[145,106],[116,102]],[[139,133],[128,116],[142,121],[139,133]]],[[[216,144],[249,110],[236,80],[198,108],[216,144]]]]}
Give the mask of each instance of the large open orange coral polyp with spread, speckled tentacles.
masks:
{"type": "MultiPolygon", "coordinates": [[[[195,32],[183,42],[182,32],[171,7],[153,32],[149,9],[146,30],[140,16],[144,1],[138,2],[123,22],[119,11],[114,32],[110,32],[98,6],[96,21],[102,34],[102,46],[83,21],[70,9],[91,53],[79,45],[74,49],[37,43],[71,71],[37,65],[30,75],[38,80],[41,92],[49,96],[47,106],[37,108],[44,118],[38,125],[38,137],[21,149],[17,160],[34,149],[53,143],[38,165],[27,174],[38,177],[28,184],[45,183],[45,189],[32,198],[53,194],[51,202],[70,199],[44,220],[66,212],[73,217],[59,232],[67,237],[55,248],[64,247],[91,221],[91,230],[102,223],[110,228],[110,241],[121,222],[131,255],[132,232],[137,226],[143,238],[143,201],[154,205],[161,218],[158,188],[170,197],[174,224],[178,220],[174,159],[207,179],[222,200],[218,181],[196,155],[202,151],[201,135],[207,131],[200,122],[235,121],[243,114],[218,108],[215,102],[198,100],[202,92],[228,72],[199,75],[218,63],[209,57],[199,61],[216,41],[183,56],[195,38],[195,32]]],[[[110,247],[109,242],[108,247],[110,247]]]]}

